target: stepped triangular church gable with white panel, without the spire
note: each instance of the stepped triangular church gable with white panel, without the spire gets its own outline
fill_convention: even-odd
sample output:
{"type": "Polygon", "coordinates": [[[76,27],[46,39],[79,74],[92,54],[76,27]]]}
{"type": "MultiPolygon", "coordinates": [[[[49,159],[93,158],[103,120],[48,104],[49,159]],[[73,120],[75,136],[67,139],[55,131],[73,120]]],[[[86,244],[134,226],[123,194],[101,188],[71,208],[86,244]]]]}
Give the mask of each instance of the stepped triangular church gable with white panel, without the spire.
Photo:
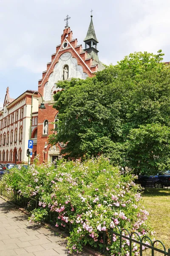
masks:
{"type": "MultiPolygon", "coordinates": [[[[70,27],[66,27],[61,35],[61,44],[57,45],[56,53],[51,55],[51,61],[47,63],[47,70],[42,72],[42,79],[39,80],[39,87],[43,87],[50,80],[50,87],[57,81],[64,80],[63,68],[68,65],[68,79],[94,76],[99,70],[98,63],[77,44],[77,38],[73,39],[70,27]],[[58,66],[58,67],[57,67],[58,66]]],[[[40,90],[40,88],[39,88],[40,90]]],[[[40,91],[44,95],[43,90],[40,91]]]]}

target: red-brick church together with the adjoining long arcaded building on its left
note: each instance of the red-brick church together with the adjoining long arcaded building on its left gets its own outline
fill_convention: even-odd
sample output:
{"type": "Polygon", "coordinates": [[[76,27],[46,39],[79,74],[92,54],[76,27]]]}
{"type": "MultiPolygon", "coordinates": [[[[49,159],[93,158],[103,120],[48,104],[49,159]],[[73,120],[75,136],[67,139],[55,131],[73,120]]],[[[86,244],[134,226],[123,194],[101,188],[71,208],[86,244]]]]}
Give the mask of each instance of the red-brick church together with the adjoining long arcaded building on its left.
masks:
{"type": "Polygon", "coordinates": [[[51,55],[47,69],[42,72],[37,91],[27,90],[17,99],[11,99],[7,87],[4,105],[0,109],[0,163],[28,163],[26,153],[30,136],[34,144],[31,160],[37,154],[40,163],[52,162],[62,157],[60,154],[64,147],[62,143],[53,146],[48,144],[48,136],[57,132],[55,128],[58,113],[53,108],[53,96],[62,90],[57,86],[57,82],[70,81],[72,78],[86,79],[95,76],[97,71],[105,68],[99,61],[98,40],[92,17],[91,15],[83,49],[81,44],[77,44],[77,39],[73,39],[67,15],[60,44],[57,45],[55,53],[51,55]],[[45,108],[39,109],[42,99],[45,108]]]}

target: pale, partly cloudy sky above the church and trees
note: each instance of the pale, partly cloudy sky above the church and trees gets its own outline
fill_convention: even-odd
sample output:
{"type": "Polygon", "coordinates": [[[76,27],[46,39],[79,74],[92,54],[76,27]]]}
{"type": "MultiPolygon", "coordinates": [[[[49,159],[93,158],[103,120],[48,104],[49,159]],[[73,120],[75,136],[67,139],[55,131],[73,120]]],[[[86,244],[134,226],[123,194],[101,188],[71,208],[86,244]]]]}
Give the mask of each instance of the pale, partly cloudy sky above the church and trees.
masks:
{"type": "Polygon", "coordinates": [[[102,62],[116,64],[130,52],[159,49],[170,61],[169,0],[0,0],[0,107],[7,86],[11,98],[37,90],[67,14],[84,47],[91,8],[102,62]]]}

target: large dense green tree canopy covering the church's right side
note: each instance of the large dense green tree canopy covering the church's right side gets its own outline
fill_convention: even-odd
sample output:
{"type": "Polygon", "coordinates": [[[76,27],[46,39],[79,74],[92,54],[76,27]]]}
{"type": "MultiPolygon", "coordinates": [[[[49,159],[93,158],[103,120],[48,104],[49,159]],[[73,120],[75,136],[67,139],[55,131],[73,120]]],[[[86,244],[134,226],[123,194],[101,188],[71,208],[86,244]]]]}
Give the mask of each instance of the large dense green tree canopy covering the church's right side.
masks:
{"type": "Polygon", "coordinates": [[[92,78],[61,81],[54,95],[57,135],[65,157],[104,154],[135,173],[170,168],[170,68],[154,55],[135,52],[92,78]]]}

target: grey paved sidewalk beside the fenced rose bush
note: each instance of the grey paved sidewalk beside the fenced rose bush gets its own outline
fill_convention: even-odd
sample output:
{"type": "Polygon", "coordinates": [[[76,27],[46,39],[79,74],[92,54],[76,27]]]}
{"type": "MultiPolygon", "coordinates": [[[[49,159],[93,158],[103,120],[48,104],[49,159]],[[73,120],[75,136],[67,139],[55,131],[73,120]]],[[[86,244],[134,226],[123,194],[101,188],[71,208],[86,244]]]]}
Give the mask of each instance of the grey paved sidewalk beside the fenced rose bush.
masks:
{"type": "MultiPolygon", "coordinates": [[[[0,198],[0,256],[65,256],[66,241],[0,198]]],[[[84,256],[89,254],[85,253],[84,256]]]]}

